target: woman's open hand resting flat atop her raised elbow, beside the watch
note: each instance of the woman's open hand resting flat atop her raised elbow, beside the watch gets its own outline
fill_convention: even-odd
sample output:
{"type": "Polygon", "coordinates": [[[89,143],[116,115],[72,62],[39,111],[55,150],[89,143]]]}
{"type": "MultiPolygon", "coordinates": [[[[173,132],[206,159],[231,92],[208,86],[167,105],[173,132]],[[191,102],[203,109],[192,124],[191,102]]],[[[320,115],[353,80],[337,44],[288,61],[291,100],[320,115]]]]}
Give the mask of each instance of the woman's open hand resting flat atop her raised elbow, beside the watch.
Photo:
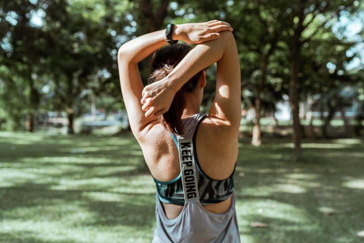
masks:
{"type": "Polygon", "coordinates": [[[187,44],[198,44],[207,40],[217,39],[220,31],[232,31],[230,24],[219,20],[200,23],[176,24],[172,39],[182,40],[187,44]]]}

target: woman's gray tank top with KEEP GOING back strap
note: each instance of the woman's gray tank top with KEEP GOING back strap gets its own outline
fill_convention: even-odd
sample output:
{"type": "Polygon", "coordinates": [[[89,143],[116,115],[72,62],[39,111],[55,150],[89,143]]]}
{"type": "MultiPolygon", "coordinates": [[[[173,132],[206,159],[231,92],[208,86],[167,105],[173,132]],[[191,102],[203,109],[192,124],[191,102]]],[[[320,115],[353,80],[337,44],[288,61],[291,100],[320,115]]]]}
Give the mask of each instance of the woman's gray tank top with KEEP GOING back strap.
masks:
{"type": "Polygon", "coordinates": [[[213,213],[205,209],[198,194],[192,134],[203,113],[182,119],[184,133],[177,135],[179,161],[183,184],[184,204],[179,215],[168,219],[155,195],[156,228],[152,243],[158,242],[240,242],[235,211],[235,194],[225,213],[213,213]]]}

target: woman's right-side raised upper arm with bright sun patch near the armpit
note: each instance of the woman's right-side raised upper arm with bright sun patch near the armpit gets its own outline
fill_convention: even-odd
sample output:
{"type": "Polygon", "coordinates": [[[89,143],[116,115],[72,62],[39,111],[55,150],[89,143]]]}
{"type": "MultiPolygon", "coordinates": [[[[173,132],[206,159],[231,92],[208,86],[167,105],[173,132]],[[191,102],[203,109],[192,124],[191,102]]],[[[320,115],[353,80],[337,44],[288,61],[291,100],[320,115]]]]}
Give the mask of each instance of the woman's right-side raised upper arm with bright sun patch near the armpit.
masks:
{"type": "Polygon", "coordinates": [[[217,61],[215,97],[208,115],[215,122],[222,122],[236,132],[241,118],[240,64],[234,36],[224,31],[226,47],[217,61]]]}

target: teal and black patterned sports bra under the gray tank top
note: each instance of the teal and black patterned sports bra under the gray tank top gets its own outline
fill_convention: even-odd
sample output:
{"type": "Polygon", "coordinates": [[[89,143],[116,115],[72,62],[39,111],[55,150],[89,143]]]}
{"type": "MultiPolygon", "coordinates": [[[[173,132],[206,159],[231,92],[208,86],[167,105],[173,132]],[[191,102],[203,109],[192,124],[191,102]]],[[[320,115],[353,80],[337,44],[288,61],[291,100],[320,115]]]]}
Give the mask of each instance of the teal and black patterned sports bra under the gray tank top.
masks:
{"type": "MultiPolygon", "coordinates": [[[[199,123],[205,117],[207,117],[207,115],[198,112],[191,117],[182,119],[182,124],[184,128],[184,132],[182,135],[175,136],[173,133],[169,132],[169,134],[173,138],[175,145],[177,146],[179,153],[179,160],[181,164],[181,171],[183,170],[184,172],[183,176],[182,172],[180,172],[176,178],[165,182],[159,181],[153,177],[160,201],[164,203],[174,203],[183,205],[185,202],[184,197],[186,196],[185,194],[187,193],[188,189],[190,191],[193,191],[192,187],[193,181],[188,182],[188,177],[191,177],[188,175],[193,174],[193,172],[195,176],[194,178],[192,178],[192,180],[194,179],[195,185],[197,187],[195,188],[196,191],[195,199],[199,199],[202,205],[217,203],[226,200],[229,197],[229,195],[234,191],[233,174],[236,168],[236,163],[231,175],[226,179],[222,180],[215,180],[210,178],[207,174],[203,172],[201,166],[199,165],[196,153],[196,133],[199,123]],[[179,145],[178,145],[178,140],[180,140],[179,145]],[[191,140],[190,156],[183,155],[187,154],[186,153],[187,150],[185,150],[185,147],[183,147],[183,142],[181,145],[181,141],[188,141],[188,140],[191,140]],[[193,165],[193,170],[183,168],[182,157],[192,158],[191,161],[187,162],[189,162],[190,165],[193,165]],[[193,172],[188,172],[189,170],[193,172]],[[182,179],[184,179],[184,182],[182,182],[182,179]]],[[[185,163],[185,161],[183,163],[185,163]]]]}

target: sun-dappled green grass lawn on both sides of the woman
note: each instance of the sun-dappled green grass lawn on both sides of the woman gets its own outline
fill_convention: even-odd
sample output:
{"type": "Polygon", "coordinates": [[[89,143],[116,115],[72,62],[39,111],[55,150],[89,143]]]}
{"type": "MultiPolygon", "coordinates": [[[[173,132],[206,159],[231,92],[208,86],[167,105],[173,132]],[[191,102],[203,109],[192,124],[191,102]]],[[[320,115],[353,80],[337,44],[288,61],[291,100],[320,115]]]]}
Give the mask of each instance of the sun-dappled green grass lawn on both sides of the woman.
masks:
{"type": "MultiPolygon", "coordinates": [[[[240,141],[242,242],[363,242],[364,139],[265,142],[240,141]]],[[[154,200],[131,134],[0,132],[0,242],[150,242],[154,200]]]]}

